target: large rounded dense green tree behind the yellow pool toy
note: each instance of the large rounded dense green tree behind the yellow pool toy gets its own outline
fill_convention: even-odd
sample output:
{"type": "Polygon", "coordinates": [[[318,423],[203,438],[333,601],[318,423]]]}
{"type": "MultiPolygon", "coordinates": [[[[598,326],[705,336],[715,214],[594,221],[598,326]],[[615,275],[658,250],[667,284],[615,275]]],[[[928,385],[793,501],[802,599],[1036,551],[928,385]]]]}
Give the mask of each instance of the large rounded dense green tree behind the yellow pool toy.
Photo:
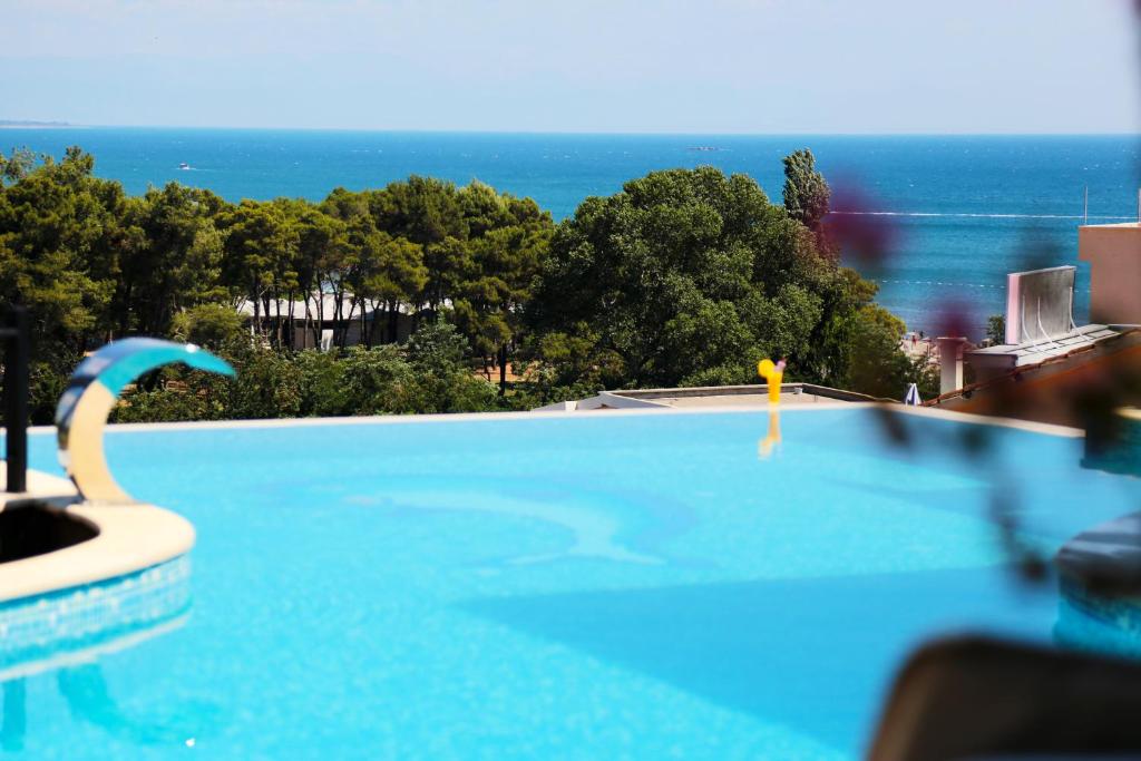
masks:
{"type": "Polygon", "coordinates": [[[548,388],[752,382],[762,357],[840,384],[874,294],[748,177],[653,172],[559,226],[526,348],[548,388]]]}

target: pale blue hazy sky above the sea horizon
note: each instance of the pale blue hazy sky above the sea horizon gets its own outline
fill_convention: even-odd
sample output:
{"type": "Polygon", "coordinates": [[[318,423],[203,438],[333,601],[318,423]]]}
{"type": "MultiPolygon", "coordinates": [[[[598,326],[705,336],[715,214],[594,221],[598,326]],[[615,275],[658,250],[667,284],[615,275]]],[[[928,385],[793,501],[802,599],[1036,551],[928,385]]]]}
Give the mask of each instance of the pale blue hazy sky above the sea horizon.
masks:
{"type": "Polygon", "coordinates": [[[0,119],[1135,132],[1128,0],[0,0],[0,119]]]}

